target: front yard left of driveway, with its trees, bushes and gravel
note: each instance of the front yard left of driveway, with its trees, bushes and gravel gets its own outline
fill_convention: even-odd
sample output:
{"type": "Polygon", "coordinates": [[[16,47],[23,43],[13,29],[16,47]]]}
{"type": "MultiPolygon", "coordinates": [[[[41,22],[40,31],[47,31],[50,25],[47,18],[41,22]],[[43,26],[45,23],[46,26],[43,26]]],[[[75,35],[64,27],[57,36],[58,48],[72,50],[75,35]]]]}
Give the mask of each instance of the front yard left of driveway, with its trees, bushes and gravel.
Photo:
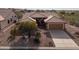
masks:
{"type": "Polygon", "coordinates": [[[7,39],[9,46],[13,47],[55,47],[48,30],[39,29],[35,22],[22,22],[16,24],[7,39]]]}

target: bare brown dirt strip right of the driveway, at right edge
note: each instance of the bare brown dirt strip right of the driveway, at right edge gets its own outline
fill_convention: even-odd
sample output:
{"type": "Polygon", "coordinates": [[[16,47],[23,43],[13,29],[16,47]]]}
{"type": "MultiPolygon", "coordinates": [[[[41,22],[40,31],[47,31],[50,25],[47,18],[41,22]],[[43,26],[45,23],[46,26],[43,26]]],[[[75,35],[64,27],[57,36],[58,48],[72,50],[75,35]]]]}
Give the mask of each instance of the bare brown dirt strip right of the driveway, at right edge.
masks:
{"type": "Polygon", "coordinates": [[[78,27],[66,24],[66,31],[69,33],[69,35],[71,35],[72,39],[74,40],[74,42],[79,46],[79,38],[77,38],[74,33],[79,31],[78,27]]]}

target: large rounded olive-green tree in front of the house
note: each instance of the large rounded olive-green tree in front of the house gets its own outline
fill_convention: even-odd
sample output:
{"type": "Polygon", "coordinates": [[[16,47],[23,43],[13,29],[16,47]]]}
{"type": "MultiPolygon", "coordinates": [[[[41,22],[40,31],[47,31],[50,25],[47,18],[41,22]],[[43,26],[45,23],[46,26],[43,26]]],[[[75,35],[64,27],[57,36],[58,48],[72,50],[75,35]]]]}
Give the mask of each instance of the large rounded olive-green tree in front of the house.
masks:
{"type": "Polygon", "coordinates": [[[22,34],[28,34],[28,38],[31,37],[31,34],[37,29],[36,22],[34,21],[25,21],[21,22],[19,26],[19,30],[22,34]]]}

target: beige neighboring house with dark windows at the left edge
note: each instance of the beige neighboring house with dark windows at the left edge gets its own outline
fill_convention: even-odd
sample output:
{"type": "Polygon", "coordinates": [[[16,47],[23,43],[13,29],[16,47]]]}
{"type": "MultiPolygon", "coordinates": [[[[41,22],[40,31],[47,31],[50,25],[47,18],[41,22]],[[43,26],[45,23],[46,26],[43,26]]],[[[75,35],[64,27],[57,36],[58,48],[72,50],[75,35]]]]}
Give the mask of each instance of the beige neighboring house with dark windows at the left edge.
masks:
{"type": "Polygon", "coordinates": [[[12,10],[0,9],[0,30],[4,29],[15,21],[18,21],[18,19],[12,10]]]}

